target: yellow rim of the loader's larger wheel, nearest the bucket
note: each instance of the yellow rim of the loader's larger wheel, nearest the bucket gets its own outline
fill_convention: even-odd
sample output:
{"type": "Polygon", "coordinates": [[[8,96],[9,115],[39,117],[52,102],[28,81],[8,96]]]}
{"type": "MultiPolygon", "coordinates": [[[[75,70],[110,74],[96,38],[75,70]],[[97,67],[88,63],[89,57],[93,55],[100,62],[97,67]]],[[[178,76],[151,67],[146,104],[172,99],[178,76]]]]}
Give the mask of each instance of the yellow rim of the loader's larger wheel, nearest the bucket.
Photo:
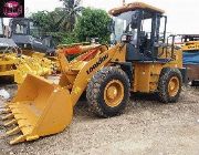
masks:
{"type": "Polygon", "coordinates": [[[124,85],[118,80],[107,83],[104,90],[104,100],[111,107],[117,106],[124,99],[124,85]]]}

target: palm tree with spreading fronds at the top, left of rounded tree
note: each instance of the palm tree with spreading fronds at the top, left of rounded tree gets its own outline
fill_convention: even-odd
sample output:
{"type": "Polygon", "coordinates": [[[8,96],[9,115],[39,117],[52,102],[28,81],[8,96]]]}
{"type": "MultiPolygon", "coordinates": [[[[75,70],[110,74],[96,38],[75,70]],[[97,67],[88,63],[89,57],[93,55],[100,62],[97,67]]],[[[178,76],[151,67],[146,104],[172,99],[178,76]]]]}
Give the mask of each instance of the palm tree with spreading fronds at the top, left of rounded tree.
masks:
{"type": "Polygon", "coordinates": [[[80,7],[81,0],[60,0],[63,2],[63,16],[61,16],[57,23],[60,28],[64,31],[72,32],[80,12],[83,10],[83,7],[80,7]]]}

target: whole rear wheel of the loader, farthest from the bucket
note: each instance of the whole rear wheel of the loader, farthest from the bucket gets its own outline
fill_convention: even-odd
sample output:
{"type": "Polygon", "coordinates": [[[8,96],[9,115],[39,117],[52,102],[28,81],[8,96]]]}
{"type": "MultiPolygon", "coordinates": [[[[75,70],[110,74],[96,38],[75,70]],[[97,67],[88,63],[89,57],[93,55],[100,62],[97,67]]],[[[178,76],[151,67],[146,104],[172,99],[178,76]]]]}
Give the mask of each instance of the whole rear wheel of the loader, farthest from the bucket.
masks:
{"type": "Polygon", "coordinates": [[[164,103],[177,102],[181,92],[181,72],[178,69],[163,69],[159,83],[158,95],[164,103]]]}

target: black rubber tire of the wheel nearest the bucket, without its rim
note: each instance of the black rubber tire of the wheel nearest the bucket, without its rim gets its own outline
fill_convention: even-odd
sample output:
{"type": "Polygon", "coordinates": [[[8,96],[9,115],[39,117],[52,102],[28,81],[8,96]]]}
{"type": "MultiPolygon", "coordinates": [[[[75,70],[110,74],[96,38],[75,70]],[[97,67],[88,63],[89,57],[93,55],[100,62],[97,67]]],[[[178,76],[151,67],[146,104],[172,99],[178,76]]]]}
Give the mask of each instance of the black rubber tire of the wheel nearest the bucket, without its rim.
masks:
{"type": "Polygon", "coordinates": [[[129,100],[129,80],[126,73],[115,66],[102,69],[91,79],[86,89],[86,97],[90,110],[98,116],[111,117],[121,114],[129,100]],[[104,96],[106,85],[113,80],[119,81],[124,87],[123,100],[114,107],[106,104],[104,96]]]}

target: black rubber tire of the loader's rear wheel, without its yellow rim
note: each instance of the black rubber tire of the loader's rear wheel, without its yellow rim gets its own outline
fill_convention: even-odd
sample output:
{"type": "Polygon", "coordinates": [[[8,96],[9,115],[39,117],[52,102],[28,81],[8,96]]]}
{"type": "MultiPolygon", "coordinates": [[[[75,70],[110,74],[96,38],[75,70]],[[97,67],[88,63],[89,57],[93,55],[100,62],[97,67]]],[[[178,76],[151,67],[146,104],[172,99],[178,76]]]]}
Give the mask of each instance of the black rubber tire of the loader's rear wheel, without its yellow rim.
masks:
{"type": "Polygon", "coordinates": [[[158,82],[158,96],[163,103],[175,103],[178,101],[181,92],[182,76],[178,69],[165,68],[161,70],[159,82],[158,82]],[[177,78],[179,82],[179,87],[175,95],[169,94],[169,81],[172,78],[177,78]]]}

